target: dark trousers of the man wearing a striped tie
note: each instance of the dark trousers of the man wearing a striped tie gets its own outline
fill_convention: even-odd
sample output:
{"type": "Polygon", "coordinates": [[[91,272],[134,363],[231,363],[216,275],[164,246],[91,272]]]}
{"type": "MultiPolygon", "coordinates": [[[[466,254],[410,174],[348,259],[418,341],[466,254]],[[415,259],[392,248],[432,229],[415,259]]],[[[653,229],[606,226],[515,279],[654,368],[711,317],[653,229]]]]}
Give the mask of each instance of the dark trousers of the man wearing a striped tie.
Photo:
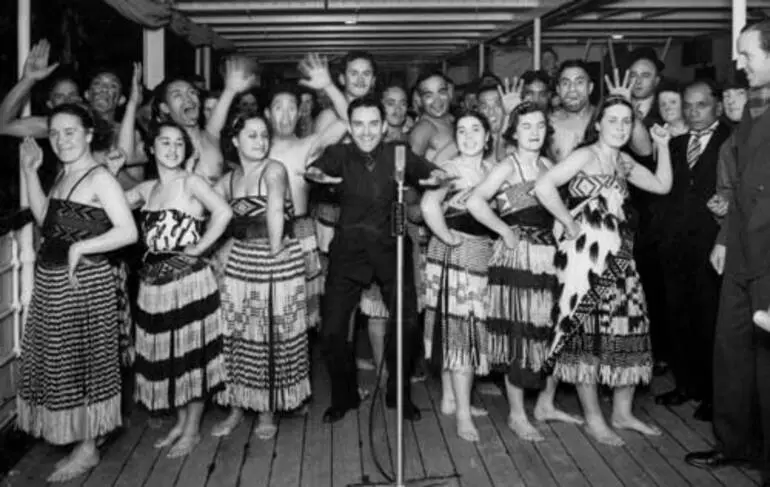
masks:
{"type": "Polygon", "coordinates": [[[721,279],[709,262],[707,237],[661,245],[664,339],[677,388],[698,400],[713,395],[714,330],[721,279]]]}

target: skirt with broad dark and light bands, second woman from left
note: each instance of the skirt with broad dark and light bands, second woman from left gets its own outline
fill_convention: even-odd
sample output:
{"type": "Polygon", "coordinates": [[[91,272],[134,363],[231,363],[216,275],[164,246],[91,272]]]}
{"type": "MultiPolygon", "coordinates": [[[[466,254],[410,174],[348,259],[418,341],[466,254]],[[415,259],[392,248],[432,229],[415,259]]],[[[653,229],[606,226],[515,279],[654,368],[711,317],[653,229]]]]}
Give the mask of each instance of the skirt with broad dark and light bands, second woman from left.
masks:
{"type": "Polygon", "coordinates": [[[135,399],[165,411],[224,388],[220,294],[199,257],[151,254],[136,313],[135,399]]]}

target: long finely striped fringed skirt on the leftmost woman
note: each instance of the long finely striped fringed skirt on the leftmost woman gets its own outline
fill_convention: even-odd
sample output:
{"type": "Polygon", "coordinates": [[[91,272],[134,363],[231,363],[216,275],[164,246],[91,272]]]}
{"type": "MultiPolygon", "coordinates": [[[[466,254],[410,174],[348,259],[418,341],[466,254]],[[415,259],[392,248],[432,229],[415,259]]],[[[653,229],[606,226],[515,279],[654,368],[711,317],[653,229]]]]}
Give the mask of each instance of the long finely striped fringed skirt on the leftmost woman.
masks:
{"type": "Polygon", "coordinates": [[[56,445],[121,425],[114,270],[84,259],[75,275],[38,263],[21,345],[18,426],[56,445]]]}

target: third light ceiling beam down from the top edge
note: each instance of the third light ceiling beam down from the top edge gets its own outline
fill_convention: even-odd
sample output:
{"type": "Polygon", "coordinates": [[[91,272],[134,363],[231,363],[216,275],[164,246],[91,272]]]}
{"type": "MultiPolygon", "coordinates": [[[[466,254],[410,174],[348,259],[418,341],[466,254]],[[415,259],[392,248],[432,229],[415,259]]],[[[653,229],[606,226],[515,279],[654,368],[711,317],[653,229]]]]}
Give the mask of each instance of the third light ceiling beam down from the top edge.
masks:
{"type": "Polygon", "coordinates": [[[356,24],[356,25],[301,25],[294,23],[284,25],[233,25],[233,26],[215,26],[214,31],[218,34],[228,34],[236,32],[432,32],[432,31],[483,31],[497,28],[497,24],[490,23],[468,23],[468,24],[356,24]]]}

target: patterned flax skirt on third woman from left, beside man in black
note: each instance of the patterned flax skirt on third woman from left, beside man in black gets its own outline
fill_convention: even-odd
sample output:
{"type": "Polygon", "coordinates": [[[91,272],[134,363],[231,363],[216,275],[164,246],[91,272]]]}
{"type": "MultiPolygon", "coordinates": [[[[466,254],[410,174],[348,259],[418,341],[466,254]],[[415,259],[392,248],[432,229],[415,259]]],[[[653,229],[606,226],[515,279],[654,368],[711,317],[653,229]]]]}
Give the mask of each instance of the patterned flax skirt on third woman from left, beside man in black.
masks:
{"type": "Polygon", "coordinates": [[[233,242],[222,282],[228,379],[219,404],[289,411],[310,396],[305,276],[296,239],[277,256],[267,239],[233,242]]]}

